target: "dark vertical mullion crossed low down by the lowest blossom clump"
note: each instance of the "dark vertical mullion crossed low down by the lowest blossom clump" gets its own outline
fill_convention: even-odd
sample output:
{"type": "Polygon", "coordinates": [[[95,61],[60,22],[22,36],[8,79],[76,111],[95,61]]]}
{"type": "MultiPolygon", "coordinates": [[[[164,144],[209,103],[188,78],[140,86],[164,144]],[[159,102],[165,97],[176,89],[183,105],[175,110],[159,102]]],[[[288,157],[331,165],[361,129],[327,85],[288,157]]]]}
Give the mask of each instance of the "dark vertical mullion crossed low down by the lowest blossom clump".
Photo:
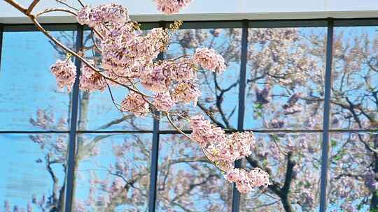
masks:
{"type": "MultiPolygon", "coordinates": [[[[245,93],[246,93],[246,63],[247,63],[247,48],[248,45],[248,20],[242,22],[241,33],[241,59],[240,59],[240,77],[239,77],[239,105],[237,117],[237,131],[244,131],[244,112],[245,112],[245,93]]],[[[235,168],[241,167],[241,160],[235,162],[235,168]]],[[[240,192],[237,190],[234,183],[232,189],[232,212],[239,212],[240,207],[240,192]]]]}

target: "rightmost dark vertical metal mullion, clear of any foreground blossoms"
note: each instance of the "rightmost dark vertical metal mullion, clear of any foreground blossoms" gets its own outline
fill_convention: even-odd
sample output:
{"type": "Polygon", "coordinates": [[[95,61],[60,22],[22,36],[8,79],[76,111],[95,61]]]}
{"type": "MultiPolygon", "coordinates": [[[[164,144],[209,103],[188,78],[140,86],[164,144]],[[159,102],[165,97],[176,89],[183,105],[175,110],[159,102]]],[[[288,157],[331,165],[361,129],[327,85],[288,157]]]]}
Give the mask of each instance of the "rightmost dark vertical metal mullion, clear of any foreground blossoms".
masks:
{"type": "Polygon", "coordinates": [[[332,88],[332,48],[333,48],[333,20],[328,20],[327,46],[325,54],[325,90],[323,112],[323,139],[321,144],[321,196],[320,211],[327,210],[327,181],[328,181],[328,154],[330,139],[330,96],[332,88]]]}

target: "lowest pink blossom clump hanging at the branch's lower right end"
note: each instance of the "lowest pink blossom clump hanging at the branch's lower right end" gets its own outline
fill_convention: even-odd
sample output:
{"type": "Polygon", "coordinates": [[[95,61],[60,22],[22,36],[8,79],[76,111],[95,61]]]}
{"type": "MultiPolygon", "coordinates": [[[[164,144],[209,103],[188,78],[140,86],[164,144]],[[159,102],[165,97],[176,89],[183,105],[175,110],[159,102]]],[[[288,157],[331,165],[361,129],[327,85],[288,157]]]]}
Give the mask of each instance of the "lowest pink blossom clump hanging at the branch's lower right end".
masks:
{"type": "Polygon", "coordinates": [[[195,140],[220,169],[226,172],[226,179],[237,183],[237,189],[246,193],[255,187],[269,185],[269,174],[262,169],[234,169],[233,162],[251,155],[251,147],[255,144],[253,132],[235,132],[225,135],[225,132],[204,119],[202,115],[190,119],[193,129],[191,138],[195,140]]]}

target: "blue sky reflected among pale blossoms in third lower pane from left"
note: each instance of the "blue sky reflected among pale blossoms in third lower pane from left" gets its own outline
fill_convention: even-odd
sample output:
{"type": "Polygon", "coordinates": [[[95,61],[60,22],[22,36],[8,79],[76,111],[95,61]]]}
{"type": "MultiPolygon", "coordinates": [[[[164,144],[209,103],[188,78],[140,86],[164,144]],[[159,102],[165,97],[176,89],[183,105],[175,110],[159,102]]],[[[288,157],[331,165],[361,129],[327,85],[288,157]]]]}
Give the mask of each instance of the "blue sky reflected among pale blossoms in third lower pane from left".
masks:
{"type": "MultiPolygon", "coordinates": [[[[202,157],[203,153],[199,146],[181,135],[160,135],[160,153],[159,153],[159,166],[167,165],[171,160],[179,160],[185,158],[202,157]]],[[[232,194],[227,191],[231,183],[228,183],[223,178],[223,174],[211,165],[209,162],[178,162],[170,165],[169,169],[165,168],[168,173],[158,172],[158,201],[157,211],[165,211],[162,206],[168,207],[174,211],[183,211],[179,206],[174,204],[162,204],[163,197],[174,199],[181,195],[181,186],[188,186],[190,183],[196,184],[207,179],[211,174],[216,174],[216,181],[204,184],[204,188],[201,186],[194,187],[188,194],[183,195],[182,198],[177,199],[177,203],[183,206],[190,206],[193,211],[209,211],[209,206],[218,206],[218,211],[228,211],[230,205],[228,200],[222,199],[221,193],[226,193],[226,198],[231,197],[232,194]],[[208,172],[207,170],[211,170],[208,172]],[[203,175],[202,175],[203,174],[203,175]],[[167,179],[165,176],[167,175],[167,179]],[[189,176],[192,176],[189,178],[189,176]],[[176,177],[180,177],[180,182],[185,181],[188,185],[181,185],[181,183],[174,183],[176,177]],[[213,184],[215,183],[215,185],[213,184]],[[172,185],[173,184],[173,185],[172,185]],[[215,186],[212,190],[212,186],[215,186]],[[164,189],[163,189],[164,188],[164,189]],[[169,192],[167,192],[169,190],[169,192]],[[188,199],[187,201],[185,199],[188,199]],[[190,202],[194,204],[191,205],[190,202]]]]}

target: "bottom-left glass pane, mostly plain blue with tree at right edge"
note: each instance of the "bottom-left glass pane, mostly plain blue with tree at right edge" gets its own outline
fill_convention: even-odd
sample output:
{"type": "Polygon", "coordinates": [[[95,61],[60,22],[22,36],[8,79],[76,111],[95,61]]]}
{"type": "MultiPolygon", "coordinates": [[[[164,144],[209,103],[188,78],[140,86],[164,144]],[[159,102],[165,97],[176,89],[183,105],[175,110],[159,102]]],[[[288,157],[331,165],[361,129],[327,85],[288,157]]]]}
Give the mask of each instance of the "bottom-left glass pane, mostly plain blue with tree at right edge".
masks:
{"type": "Polygon", "coordinates": [[[0,211],[62,211],[67,140],[66,134],[0,135],[0,211]]]}

